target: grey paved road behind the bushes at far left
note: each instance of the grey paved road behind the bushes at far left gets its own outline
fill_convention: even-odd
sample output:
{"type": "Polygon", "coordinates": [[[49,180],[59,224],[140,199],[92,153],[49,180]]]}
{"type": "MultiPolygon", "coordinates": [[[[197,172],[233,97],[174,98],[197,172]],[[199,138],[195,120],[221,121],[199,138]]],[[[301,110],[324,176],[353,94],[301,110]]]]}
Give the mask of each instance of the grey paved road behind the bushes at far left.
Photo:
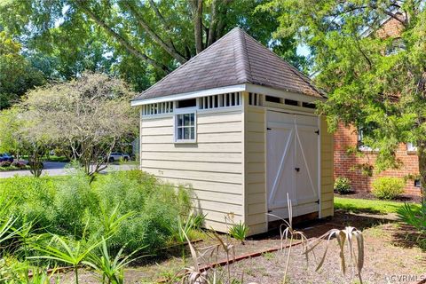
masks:
{"type": "MultiPolygon", "coordinates": [[[[70,170],[67,169],[67,162],[43,162],[44,170],[42,175],[49,176],[63,176],[69,174],[70,170]]],[[[116,165],[111,164],[103,170],[102,173],[113,171],[113,170],[133,170],[138,169],[137,165],[116,165]]],[[[12,171],[0,171],[0,178],[2,177],[13,177],[15,175],[18,176],[31,176],[29,170],[12,170],[12,171]]]]}

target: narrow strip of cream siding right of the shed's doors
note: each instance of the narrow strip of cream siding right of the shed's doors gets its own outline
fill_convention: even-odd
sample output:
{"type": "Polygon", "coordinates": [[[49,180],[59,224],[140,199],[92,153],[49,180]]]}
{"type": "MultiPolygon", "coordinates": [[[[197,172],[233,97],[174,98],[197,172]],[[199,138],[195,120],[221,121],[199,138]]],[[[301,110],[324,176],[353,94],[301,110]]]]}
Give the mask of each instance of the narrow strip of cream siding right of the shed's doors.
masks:
{"type": "Polygon", "coordinates": [[[334,215],[333,197],[333,134],[327,131],[327,121],[320,117],[321,131],[321,214],[320,217],[334,215]]]}

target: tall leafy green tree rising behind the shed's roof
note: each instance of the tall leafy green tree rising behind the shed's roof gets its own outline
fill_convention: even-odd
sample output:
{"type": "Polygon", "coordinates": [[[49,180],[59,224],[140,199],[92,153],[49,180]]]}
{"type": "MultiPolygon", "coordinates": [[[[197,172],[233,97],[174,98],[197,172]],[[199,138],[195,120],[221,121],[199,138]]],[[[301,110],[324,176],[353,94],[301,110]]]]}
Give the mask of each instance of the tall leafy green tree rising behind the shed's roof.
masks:
{"type": "Polygon", "coordinates": [[[54,59],[66,78],[84,69],[111,72],[141,91],[235,26],[304,64],[292,36],[272,40],[278,21],[256,12],[264,1],[11,1],[0,4],[0,25],[29,51],[54,59]]]}

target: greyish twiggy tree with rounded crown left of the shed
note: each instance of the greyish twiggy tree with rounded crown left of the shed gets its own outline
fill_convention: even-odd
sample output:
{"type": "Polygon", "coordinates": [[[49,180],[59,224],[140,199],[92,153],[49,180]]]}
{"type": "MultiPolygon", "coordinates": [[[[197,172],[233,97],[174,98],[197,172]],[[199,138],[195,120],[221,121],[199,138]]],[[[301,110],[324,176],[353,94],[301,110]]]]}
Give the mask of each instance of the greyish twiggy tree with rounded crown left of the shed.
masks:
{"type": "Polygon", "coordinates": [[[33,125],[31,135],[45,136],[51,145],[70,152],[69,158],[93,175],[106,168],[115,146],[137,137],[138,111],[129,103],[134,96],[120,79],[83,73],[29,91],[19,106],[21,116],[33,125]]]}

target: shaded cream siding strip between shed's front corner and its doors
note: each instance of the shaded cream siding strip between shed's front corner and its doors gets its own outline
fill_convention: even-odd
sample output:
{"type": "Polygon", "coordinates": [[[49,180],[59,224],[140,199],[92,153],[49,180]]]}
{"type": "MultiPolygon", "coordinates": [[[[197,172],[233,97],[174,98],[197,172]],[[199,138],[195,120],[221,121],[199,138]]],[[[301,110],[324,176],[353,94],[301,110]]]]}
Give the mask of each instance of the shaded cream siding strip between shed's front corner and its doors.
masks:
{"type": "Polygon", "coordinates": [[[244,104],[245,222],[249,234],[267,230],[266,209],[266,109],[244,104]]]}

